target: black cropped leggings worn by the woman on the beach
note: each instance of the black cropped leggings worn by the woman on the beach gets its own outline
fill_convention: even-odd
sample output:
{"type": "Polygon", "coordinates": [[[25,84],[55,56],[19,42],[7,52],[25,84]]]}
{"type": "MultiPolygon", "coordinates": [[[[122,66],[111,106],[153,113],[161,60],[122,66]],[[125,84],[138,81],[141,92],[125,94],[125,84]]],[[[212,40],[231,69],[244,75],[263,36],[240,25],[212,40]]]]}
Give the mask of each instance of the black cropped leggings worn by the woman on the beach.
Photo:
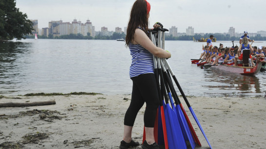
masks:
{"type": "Polygon", "coordinates": [[[131,78],[133,81],[132,98],[130,106],[125,114],[124,125],[133,126],[139,109],[146,103],[144,113],[144,126],[153,128],[159,95],[153,73],[142,74],[131,78]]]}

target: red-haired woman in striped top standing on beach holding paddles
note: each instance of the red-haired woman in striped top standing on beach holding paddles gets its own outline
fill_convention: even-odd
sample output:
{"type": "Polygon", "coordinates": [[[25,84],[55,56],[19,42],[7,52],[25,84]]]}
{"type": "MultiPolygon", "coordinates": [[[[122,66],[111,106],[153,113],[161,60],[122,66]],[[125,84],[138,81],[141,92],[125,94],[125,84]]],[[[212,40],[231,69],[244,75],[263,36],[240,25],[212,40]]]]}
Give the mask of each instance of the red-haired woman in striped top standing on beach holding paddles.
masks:
{"type": "Polygon", "coordinates": [[[159,58],[170,58],[171,54],[156,47],[148,37],[150,9],[151,5],[148,1],[136,0],[128,23],[126,45],[132,55],[130,78],[133,81],[133,89],[131,103],[125,114],[124,137],[120,149],[139,146],[138,142],[132,140],[132,128],[136,115],[144,103],[146,103],[144,113],[146,140],[142,145],[142,149],[159,149],[153,134],[159,96],[153,72],[152,55],[159,58]]]}

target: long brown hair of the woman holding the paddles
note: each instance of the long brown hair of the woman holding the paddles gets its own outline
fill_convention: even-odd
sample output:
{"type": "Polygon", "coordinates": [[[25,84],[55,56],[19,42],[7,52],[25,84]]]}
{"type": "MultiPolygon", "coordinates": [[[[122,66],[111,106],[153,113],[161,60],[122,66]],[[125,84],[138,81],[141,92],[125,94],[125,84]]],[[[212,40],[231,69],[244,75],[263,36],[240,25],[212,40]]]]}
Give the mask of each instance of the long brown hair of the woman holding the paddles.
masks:
{"type": "Polygon", "coordinates": [[[135,29],[140,26],[148,34],[148,18],[146,0],[136,0],[132,6],[126,35],[126,45],[134,41],[135,29]]]}

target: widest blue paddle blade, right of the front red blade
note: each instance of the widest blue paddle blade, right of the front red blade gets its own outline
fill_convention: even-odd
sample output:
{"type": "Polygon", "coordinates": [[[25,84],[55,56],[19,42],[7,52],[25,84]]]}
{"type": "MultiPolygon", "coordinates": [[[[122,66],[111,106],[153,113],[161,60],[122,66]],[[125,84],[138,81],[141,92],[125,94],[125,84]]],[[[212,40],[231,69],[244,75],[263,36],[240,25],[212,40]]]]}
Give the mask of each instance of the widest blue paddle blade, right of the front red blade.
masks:
{"type": "Polygon", "coordinates": [[[165,106],[165,123],[169,149],[187,149],[178,119],[169,104],[165,106]]]}

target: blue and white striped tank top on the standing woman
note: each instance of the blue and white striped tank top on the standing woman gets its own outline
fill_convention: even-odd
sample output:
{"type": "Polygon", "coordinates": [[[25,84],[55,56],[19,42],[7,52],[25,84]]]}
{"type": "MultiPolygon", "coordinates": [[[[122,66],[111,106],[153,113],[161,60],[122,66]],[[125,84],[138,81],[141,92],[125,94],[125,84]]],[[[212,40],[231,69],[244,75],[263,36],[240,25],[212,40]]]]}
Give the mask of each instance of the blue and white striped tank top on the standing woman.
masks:
{"type": "Polygon", "coordinates": [[[130,66],[130,78],[141,74],[154,73],[152,53],[140,44],[129,43],[132,64],[130,66]]]}

